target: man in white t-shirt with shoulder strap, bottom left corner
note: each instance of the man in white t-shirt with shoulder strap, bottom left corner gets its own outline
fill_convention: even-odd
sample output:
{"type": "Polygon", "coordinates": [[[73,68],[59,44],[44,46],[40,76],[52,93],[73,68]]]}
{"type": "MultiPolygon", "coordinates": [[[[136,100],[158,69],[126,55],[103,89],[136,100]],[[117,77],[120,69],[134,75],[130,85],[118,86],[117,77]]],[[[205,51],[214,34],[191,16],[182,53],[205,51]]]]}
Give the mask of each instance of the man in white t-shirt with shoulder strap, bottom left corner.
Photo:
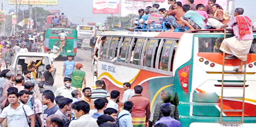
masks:
{"type": "Polygon", "coordinates": [[[35,127],[36,118],[34,112],[29,106],[18,102],[18,92],[12,91],[7,94],[7,97],[10,105],[3,109],[0,115],[0,123],[2,123],[5,118],[7,118],[8,127],[29,127],[28,121],[30,119],[30,127],[35,127]]]}

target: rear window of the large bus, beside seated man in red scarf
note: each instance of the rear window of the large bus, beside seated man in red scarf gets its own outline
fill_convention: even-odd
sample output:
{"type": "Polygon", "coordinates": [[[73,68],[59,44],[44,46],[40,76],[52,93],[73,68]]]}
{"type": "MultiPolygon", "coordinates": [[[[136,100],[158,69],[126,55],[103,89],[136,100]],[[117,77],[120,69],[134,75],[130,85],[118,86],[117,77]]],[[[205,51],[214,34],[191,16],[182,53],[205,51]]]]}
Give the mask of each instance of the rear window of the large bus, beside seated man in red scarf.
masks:
{"type": "Polygon", "coordinates": [[[199,46],[198,52],[212,52],[220,53],[220,44],[223,38],[209,37],[209,38],[198,38],[199,46]]]}

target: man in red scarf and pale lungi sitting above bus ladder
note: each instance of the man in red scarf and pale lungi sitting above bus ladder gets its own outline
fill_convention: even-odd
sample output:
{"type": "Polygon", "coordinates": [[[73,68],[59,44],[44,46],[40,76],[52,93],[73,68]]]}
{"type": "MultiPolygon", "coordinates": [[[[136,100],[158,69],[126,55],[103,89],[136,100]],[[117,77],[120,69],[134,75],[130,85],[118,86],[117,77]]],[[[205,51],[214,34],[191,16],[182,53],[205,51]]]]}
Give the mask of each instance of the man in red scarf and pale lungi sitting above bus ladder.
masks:
{"type": "Polygon", "coordinates": [[[227,24],[220,28],[233,27],[234,35],[231,38],[224,39],[221,43],[220,50],[231,54],[229,58],[240,59],[239,68],[234,69],[236,72],[242,72],[242,66],[247,60],[247,54],[250,51],[252,41],[254,39],[252,35],[251,19],[243,15],[243,8],[236,8],[234,16],[227,24]]]}

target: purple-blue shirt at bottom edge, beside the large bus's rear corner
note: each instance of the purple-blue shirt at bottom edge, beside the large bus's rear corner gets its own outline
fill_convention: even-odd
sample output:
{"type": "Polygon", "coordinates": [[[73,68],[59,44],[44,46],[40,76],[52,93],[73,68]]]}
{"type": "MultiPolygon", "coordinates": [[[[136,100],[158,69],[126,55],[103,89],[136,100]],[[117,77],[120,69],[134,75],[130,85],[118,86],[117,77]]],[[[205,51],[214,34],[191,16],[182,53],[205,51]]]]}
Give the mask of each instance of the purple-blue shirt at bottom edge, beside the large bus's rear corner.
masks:
{"type": "Polygon", "coordinates": [[[181,127],[180,122],[178,120],[171,118],[171,116],[165,116],[165,117],[160,118],[160,120],[157,121],[155,123],[155,125],[158,123],[163,123],[167,127],[181,127]]]}

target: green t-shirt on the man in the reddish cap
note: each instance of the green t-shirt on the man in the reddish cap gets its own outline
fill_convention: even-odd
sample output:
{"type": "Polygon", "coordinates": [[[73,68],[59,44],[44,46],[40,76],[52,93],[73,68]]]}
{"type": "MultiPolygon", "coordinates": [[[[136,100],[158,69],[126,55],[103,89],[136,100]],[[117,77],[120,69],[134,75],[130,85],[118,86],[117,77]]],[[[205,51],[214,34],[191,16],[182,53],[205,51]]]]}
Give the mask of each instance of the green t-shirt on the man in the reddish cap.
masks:
{"type": "Polygon", "coordinates": [[[72,71],[71,86],[76,88],[82,88],[85,72],[81,70],[72,71]]]}

